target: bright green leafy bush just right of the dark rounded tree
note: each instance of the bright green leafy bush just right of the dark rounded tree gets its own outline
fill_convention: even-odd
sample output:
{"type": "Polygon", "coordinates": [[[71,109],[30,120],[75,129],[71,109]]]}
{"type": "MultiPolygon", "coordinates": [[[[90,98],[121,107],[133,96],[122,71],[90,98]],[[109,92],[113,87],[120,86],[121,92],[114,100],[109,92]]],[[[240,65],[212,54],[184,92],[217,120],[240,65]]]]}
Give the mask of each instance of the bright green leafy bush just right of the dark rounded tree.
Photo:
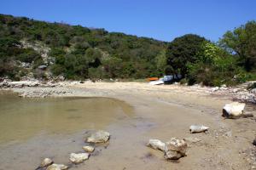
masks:
{"type": "Polygon", "coordinates": [[[238,72],[236,59],[212,42],[204,42],[194,63],[187,64],[189,84],[202,82],[207,86],[234,84],[238,72]]]}

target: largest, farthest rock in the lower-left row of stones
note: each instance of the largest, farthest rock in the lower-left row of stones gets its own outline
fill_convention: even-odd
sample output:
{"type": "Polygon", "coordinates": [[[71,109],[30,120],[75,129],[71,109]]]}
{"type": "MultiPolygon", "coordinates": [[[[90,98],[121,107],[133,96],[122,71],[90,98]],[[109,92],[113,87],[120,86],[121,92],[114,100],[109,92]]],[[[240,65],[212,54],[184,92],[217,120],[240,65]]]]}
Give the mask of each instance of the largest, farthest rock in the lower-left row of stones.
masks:
{"type": "Polygon", "coordinates": [[[92,133],[85,141],[89,143],[105,143],[108,142],[109,137],[110,133],[100,130],[92,133]]]}

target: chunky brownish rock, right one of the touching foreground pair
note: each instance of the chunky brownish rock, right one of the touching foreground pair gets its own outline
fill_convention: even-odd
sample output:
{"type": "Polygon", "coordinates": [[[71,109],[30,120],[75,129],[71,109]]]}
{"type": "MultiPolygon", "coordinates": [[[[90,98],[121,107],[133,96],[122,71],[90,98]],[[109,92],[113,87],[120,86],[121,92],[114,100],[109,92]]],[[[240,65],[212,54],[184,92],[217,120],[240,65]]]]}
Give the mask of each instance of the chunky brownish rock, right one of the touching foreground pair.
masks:
{"type": "Polygon", "coordinates": [[[166,142],[165,158],[177,160],[182,156],[186,156],[188,144],[182,139],[172,138],[166,142]]]}

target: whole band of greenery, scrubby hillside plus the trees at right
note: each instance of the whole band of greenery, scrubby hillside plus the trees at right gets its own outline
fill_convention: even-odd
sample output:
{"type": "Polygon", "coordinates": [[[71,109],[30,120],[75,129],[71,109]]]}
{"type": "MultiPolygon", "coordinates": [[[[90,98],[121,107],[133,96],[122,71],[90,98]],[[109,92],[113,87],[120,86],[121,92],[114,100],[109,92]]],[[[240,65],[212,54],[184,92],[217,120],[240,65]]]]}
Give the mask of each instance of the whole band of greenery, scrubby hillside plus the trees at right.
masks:
{"type": "Polygon", "coordinates": [[[227,31],[219,42],[187,34],[167,43],[0,14],[0,77],[137,79],[181,74],[182,82],[216,86],[255,79],[255,72],[255,21],[227,31]]]}

